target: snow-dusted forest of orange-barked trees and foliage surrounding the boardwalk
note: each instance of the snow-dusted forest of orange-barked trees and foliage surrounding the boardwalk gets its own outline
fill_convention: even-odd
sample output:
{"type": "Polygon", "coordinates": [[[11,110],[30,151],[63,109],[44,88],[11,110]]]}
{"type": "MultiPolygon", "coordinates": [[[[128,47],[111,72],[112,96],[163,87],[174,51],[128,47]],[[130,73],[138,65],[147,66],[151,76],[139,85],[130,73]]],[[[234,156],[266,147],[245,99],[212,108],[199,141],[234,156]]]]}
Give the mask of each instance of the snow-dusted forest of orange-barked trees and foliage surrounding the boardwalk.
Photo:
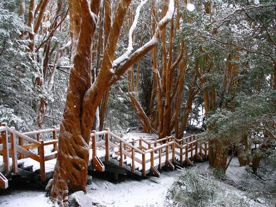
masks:
{"type": "MultiPolygon", "coordinates": [[[[275,183],[275,21],[272,0],[1,1],[0,123],[60,127],[50,188],[60,205],[68,204],[60,192],[86,191],[90,133],[105,128],[121,137],[196,133],[209,143],[215,177],[237,156],[275,183]]],[[[176,202],[187,196],[179,183],[168,205],[207,203],[176,202]]],[[[271,205],[275,193],[257,197],[271,205]]]]}

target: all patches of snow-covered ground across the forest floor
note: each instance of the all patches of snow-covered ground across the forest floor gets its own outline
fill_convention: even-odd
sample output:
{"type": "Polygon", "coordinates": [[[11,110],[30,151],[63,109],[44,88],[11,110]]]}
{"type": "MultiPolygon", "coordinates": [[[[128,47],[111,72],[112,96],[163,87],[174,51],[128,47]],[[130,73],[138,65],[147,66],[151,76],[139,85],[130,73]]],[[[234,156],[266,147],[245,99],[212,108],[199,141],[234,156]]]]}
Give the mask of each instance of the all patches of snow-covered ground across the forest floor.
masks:
{"type": "MultiPolygon", "coordinates": [[[[142,133],[132,132],[126,134],[124,139],[128,140],[137,137],[154,138],[155,135],[145,135],[142,133]]],[[[208,174],[210,169],[208,168],[208,161],[203,163],[196,163],[200,167],[200,172],[208,174]]],[[[166,194],[167,190],[172,186],[173,182],[178,178],[181,171],[179,170],[162,170],[160,178],[147,176],[142,177],[119,177],[119,183],[112,183],[106,179],[93,176],[92,184],[87,185],[87,194],[78,193],[78,197],[81,202],[88,200],[89,204],[83,206],[92,206],[91,202],[101,203],[102,206],[167,206],[166,194]]],[[[233,180],[239,185],[245,185],[246,188],[259,187],[267,185],[267,182],[259,182],[245,170],[245,167],[238,166],[237,158],[234,158],[226,171],[226,177],[233,180]],[[249,182],[250,181],[250,182],[249,182]],[[258,182],[258,183],[257,183],[258,182]],[[258,185],[257,185],[258,184],[258,185]]],[[[275,181],[268,181],[269,183],[275,181]]],[[[242,191],[236,189],[235,186],[229,185],[225,182],[221,182],[228,191],[238,193],[241,196],[242,191]]],[[[48,207],[53,206],[50,200],[45,197],[45,191],[42,188],[38,188],[22,182],[19,186],[9,187],[8,189],[0,189],[0,206],[39,206],[48,207]]],[[[250,206],[263,206],[262,200],[258,200],[259,205],[256,203],[250,203],[250,206]],[[251,205],[252,204],[252,205],[251,205]]],[[[96,206],[96,205],[95,205],[96,206]]],[[[100,206],[100,205],[97,205],[100,206]]]]}

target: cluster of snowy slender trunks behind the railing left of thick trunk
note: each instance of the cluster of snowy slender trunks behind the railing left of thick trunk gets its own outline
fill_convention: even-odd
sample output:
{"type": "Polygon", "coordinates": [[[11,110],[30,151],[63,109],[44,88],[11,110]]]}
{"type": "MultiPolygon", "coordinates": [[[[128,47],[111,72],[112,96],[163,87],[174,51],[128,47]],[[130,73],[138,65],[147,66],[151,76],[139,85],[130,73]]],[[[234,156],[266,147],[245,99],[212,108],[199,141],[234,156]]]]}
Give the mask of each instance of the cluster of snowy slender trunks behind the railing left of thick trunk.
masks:
{"type": "MultiPolygon", "coordinates": [[[[25,1],[21,0],[20,17],[23,20],[25,18],[25,7],[25,1]]],[[[69,44],[61,46],[59,43],[52,41],[56,31],[66,30],[62,24],[68,15],[68,9],[65,1],[53,3],[49,0],[41,0],[37,4],[35,0],[31,0],[28,13],[29,19],[26,22],[29,30],[22,31],[21,38],[30,40],[28,52],[32,52],[33,71],[36,73],[33,88],[34,92],[40,96],[39,101],[34,102],[33,108],[38,114],[37,125],[41,128],[48,110],[45,94],[52,92],[57,63],[61,53],[69,46],[69,44]],[[53,13],[51,15],[46,14],[48,11],[53,13]],[[51,23],[49,27],[42,26],[48,21],[51,23]],[[37,40],[38,35],[44,36],[44,39],[40,42],[37,40]],[[40,51],[43,51],[42,57],[36,55],[40,51]],[[52,60],[54,60],[54,64],[52,70],[48,72],[52,60]]]]}

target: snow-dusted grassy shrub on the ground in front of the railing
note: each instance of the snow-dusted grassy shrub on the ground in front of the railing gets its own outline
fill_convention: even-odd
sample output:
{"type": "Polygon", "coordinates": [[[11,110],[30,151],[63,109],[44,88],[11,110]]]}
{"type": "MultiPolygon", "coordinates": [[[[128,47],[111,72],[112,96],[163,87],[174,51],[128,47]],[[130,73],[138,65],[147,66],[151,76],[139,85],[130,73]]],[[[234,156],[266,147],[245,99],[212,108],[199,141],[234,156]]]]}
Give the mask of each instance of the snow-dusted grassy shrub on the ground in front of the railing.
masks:
{"type": "Polygon", "coordinates": [[[220,187],[212,175],[202,175],[197,167],[183,170],[168,190],[170,206],[243,206],[244,200],[220,187]],[[173,201],[173,202],[172,202],[173,201]]]}

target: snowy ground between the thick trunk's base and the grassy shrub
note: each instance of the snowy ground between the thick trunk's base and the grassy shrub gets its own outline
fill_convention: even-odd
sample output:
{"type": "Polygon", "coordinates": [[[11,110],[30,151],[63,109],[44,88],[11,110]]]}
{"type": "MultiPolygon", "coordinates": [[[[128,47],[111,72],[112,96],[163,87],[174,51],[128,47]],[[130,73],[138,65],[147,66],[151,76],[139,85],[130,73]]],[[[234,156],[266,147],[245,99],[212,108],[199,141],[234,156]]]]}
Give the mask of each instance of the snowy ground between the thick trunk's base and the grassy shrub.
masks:
{"type": "Polygon", "coordinates": [[[160,178],[127,178],[117,184],[93,178],[87,191],[93,201],[102,201],[106,206],[164,206],[167,188],[179,173],[162,171],[160,178]]]}

